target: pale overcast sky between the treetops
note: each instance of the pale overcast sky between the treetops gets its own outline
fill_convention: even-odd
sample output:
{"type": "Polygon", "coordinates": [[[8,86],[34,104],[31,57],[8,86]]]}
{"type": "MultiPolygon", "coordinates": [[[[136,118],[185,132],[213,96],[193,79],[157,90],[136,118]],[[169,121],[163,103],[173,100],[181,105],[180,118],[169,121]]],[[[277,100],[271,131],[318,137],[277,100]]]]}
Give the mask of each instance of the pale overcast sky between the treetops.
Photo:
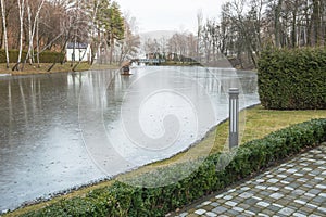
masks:
{"type": "Polygon", "coordinates": [[[116,0],[123,12],[130,12],[139,31],[197,29],[197,13],[204,17],[220,16],[221,5],[227,0],[116,0]]]}

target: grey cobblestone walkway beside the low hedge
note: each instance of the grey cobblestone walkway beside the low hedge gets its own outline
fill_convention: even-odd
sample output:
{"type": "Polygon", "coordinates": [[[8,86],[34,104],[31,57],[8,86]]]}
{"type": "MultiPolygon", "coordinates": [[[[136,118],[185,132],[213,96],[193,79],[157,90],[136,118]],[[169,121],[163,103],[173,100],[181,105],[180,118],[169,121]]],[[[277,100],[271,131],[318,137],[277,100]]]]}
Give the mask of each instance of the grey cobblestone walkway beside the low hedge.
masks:
{"type": "Polygon", "coordinates": [[[177,216],[326,216],[326,144],[177,216]]]}

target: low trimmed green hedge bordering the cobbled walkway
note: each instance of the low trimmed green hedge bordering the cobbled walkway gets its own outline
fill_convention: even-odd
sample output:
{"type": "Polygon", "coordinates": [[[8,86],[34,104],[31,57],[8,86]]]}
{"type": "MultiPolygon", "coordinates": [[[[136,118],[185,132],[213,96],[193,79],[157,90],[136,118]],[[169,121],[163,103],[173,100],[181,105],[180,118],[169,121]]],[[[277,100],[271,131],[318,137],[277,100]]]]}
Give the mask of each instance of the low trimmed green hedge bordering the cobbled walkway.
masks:
{"type": "MultiPolygon", "coordinates": [[[[313,119],[248,142],[238,148],[234,157],[211,155],[189,177],[174,184],[150,189],[115,182],[111,187],[91,191],[84,197],[62,200],[24,216],[164,216],[205,194],[223,190],[244,177],[252,176],[279,159],[324,141],[326,141],[326,119],[313,119]],[[229,164],[228,159],[231,159],[229,164]]],[[[179,173],[185,171],[184,166],[179,167],[183,168],[179,173]]],[[[166,176],[167,174],[168,171],[166,176]]],[[[177,174],[170,171],[170,176],[178,176],[177,174]]],[[[146,176],[153,177],[153,174],[146,176]]]]}

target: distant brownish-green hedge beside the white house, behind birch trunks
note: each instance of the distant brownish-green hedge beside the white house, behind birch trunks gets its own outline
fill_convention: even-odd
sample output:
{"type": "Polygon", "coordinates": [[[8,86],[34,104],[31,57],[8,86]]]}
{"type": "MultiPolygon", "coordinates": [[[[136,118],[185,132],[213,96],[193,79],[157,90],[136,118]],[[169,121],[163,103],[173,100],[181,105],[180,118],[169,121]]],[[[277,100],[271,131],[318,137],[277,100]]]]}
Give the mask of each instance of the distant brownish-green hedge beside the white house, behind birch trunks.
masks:
{"type": "MultiPolygon", "coordinates": [[[[22,52],[22,61],[25,61],[27,51],[22,52]]],[[[43,51],[39,54],[39,62],[40,63],[53,63],[55,60],[57,62],[64,59],[63,53],[52,52],[52,51],[43,51]]],[[[16,63],[18,60],[18,50],[10,50],[9,51],[9,62],[16,63]]],[[[0,50],[0,63],[5,63],[5,51],[0,50]]]]}

